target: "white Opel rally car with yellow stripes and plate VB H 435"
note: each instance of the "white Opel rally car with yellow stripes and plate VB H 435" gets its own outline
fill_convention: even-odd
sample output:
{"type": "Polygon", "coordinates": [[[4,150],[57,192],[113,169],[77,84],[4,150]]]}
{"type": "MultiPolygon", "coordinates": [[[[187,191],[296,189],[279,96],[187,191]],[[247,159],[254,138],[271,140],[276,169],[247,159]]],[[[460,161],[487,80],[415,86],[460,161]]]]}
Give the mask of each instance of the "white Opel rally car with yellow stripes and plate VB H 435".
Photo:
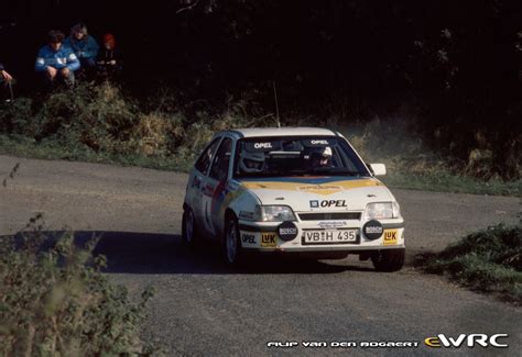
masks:
{"type": "Polygon", "coordinates": [[[229,264],[249,252],[344,258],[378,270],[404,264],[404,220],[393,194],[338,132],[314,127],[217,133],[191,171],[182,236],[220,241],[229,264]]]}

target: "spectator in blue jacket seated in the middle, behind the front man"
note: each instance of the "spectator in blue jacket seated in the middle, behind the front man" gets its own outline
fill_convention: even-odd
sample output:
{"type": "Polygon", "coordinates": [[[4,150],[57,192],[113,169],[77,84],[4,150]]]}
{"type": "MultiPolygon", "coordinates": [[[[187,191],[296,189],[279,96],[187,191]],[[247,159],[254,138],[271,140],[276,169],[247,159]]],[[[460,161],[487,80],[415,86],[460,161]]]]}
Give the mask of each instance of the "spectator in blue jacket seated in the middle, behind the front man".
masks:
{"type": "Polygon", "coordinates": [[[96,69],[99,45],[88,34],[87,26],[84,23],[78,23],[70,29],[70,35],[65,40],[64,45],[73,48],[81,64],[81,68],[87,72],[93,72],[96,69]]]}

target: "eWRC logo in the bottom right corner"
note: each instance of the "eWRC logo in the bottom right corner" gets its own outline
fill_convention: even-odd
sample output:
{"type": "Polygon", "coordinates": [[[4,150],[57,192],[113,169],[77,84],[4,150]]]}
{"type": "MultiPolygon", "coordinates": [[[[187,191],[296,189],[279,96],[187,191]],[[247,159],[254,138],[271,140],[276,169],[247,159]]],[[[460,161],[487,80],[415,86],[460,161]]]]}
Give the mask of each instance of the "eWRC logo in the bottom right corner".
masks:
{"type": "Polygon", "coordinates": [[[494,335],[486,335],[486,334],[460,334],[458,337],[448,337],[444,334],[439,334],[436,337],[427,337],[424,339],[424,344],[428,347],[433,348],[460,348],[463,346],[466,347],[497,347],[497,348],[507,348],[509,347],[508,344],[500,342],[501,338],[508,338],[508,334],[494,334],[494,335]]]}

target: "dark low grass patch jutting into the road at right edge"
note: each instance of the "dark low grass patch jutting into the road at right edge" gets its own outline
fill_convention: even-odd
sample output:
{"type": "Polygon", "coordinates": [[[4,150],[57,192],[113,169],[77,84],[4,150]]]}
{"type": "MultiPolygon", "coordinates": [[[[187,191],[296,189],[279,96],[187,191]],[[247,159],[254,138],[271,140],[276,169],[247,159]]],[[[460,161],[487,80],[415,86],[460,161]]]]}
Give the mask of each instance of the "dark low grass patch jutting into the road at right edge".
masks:
{"type": "Polygon", "coordinates": [[[496,225],[469,234],[425,263],[474,290],[522,302],[522,225],[496,225]]]}

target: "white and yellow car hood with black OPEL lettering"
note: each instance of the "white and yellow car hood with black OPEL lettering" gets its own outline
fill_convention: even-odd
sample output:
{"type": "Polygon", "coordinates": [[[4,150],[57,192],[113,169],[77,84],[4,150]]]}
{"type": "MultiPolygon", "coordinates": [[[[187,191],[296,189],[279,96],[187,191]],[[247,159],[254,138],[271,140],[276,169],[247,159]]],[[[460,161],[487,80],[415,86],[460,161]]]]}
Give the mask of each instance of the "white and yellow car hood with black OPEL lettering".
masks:
{"type": "Polygon", "coordinates": [[[239,180],[261,204],[285,204],[294,211],[359,211],[369,202],[394,201],[388,188],[372,177],[278,177],[239,180]]]}

